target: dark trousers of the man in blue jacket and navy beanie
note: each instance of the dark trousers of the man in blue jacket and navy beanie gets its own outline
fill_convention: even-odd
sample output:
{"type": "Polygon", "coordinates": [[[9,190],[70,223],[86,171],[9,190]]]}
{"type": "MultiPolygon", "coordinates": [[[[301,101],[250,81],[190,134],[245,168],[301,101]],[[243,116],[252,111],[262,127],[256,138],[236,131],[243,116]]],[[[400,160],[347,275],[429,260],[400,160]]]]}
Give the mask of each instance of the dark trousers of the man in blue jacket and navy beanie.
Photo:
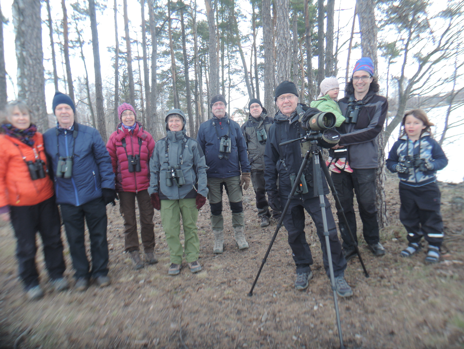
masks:
{"type": "Polygon", "coordinates": [[[97,278],[108,275],[108,243],[106,241],[106,206],[98,198],[81,206],[61,205],[66,237],[71,252],[75,278],[97,278]],[[92,269],[85,253],[84,218],[89,228],[92,269]]]}

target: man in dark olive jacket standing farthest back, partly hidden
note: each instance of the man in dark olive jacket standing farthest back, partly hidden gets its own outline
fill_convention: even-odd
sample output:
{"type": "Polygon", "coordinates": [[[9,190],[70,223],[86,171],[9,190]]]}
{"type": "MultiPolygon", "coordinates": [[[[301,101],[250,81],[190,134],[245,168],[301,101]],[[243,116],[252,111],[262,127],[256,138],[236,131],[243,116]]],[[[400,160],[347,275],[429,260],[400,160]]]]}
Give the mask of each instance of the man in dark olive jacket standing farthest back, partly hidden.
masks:
{"type": "MultiPolygon", "coordinates": [[[[274,119],[267,116],[267,111],[263,108],[261,101],[252,98],[248,103],[250,114],[248,120],[242,125],[242,132],[245,136],[245,142],[248,149],[248,160],[251,166],[251,183],[256,194],[256,207],[258,208],[258,217],[261,218],[261,227],[269,225],[269,204],[266,200],[266,191],[264,189],[264,149],[266,148],[266,139],[269,134],[274,119]]],[[[274,218],[280,215],[280,203],[271,204],[274,218]]]]}

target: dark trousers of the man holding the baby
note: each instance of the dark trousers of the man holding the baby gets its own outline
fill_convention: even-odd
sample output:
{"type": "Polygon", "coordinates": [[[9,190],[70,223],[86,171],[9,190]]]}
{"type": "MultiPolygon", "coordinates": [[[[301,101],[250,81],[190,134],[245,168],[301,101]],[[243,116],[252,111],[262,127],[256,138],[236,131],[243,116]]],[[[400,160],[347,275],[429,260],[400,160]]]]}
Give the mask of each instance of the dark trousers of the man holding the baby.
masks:
{"type": "MultiPolygon", "coordinates": [[[[335,190],[338,193],[348,225],[358,242],[356,233],[356,214],[354,213],[353,199],[356,194],[359,215],[362,221],[362,234],[368,244],[379,242],[379,222],[377,221],[377,207],[375,206],[375,173],[376,168],[354,168],[353,173],[331,173],[335,190]],[[354,191],[354,193],[353,193],[354,191]]],[[[343,248],[353,247],[353,241],[339,216],[340,233],[343,239],[343,248]]]]}

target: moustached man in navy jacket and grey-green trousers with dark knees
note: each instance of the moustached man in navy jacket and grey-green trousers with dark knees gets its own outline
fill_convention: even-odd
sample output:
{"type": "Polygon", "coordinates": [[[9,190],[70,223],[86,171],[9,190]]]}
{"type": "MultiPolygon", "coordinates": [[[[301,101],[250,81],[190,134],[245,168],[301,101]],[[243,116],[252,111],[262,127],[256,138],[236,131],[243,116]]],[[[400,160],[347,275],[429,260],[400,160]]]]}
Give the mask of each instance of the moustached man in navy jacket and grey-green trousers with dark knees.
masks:
{"type": "Polygon", "coordinates": [[[226,187],[232,210],[232,227],[240,250],[248,248],[243,233],[244,214],[242,184],[250,185],[250,162],[246,151],[245,137],[240,126],[226,113],[226,98],[216,95],[211,99],[213,117],[200,125],[197,141],[206,158],[208,177],[208,200],[211,207],[211,226],[214,233],[214,253],[224,248],[224,219],[222,217],[222,187],[226,187]],[[221,146],[222,144],[222,146],[221,146]],[[241,170],[241,171],[240,171],[241,170]],[[240,173],[242,174],[240,178],[240,173]]]}

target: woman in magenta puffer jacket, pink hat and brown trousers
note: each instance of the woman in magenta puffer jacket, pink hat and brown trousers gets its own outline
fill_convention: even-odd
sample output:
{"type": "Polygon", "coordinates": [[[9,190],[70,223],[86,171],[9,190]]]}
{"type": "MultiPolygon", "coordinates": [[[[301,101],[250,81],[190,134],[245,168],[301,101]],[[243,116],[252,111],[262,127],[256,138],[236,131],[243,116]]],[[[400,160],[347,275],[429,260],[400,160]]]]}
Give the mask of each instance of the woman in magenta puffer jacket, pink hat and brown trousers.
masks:
{"type": "Polygon", "coordinates": [[[142,125],[135,121],[136,114],[132,105],[122,103],[117,111],[121,123],[111,134],[106,148],[111,156],[113,172],[116,174],[116,192],[119,195],[120,211],[124,217],[124,250],[130,253],[135,269],[141,269],[144,264],[139,254],[135,198],[140,212],[145,259],[148,264],[158,262],[153,253],[154,211],[147,191],[150,186],[148,162],[155,148],[155,141],[142,125]]]}

